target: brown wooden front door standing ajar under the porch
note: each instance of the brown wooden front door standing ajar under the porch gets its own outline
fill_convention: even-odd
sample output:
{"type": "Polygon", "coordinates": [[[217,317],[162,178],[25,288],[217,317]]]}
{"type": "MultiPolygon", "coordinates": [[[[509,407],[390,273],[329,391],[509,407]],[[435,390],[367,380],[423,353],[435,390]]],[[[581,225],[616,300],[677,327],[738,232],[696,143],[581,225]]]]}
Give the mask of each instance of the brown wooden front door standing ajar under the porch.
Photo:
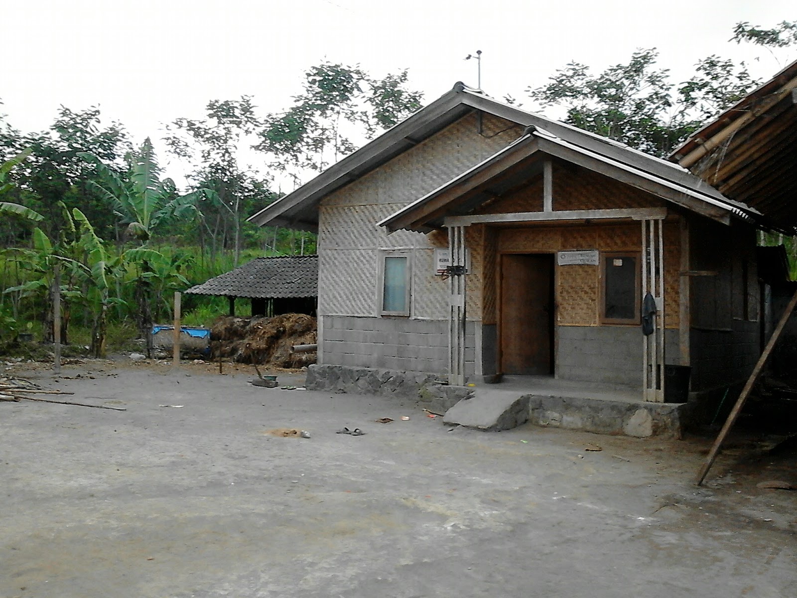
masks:
{"type": "Polygon", "coordinates": [[[501,372],[553,372],[553,255],[501,256],[501,372]]]}

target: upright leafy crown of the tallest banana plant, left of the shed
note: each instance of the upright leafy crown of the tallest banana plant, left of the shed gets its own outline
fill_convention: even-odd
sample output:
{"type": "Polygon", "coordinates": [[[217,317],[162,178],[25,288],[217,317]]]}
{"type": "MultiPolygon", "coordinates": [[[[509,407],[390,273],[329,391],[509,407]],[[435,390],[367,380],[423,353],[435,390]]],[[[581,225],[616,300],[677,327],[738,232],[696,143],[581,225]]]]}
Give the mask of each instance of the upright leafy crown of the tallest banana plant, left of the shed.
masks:
{"type": "Polygon", "coordinates": [[[124,175],[106,166],[96,155],[78,155],[96,166],[99,180],[89,181],[89,187],[108,202],[114,214],[128,224],[128,234],[143,245],[159,225],[199,217],[196,202],[206,191],[178,195],[173,180],[161,180],[149,137],[139,151],[128,154],[129,167],[124,175]]]}

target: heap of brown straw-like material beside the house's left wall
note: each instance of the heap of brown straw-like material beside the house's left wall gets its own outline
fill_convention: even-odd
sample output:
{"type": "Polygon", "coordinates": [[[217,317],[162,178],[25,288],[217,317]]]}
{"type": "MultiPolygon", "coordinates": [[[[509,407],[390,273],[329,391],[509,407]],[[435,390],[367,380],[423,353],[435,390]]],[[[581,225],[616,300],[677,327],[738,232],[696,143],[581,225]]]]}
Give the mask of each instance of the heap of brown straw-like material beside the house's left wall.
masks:
{"type": "Polygon", "coordinates": [[[316,318],[304,313],[274,317],[218,318],[210,329],[214,357],[241,364],[301,368],[316,363],[316,352],[294,353],[294,344],[315,344],[316,318]]]}

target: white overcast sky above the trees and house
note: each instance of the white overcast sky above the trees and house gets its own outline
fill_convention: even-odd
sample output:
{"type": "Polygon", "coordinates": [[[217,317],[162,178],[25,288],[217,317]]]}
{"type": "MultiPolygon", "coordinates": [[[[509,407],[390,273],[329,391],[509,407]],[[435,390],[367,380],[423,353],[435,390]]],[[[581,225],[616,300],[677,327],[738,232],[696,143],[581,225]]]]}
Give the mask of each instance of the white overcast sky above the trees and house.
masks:
{"type": "Polygon", "coordinates": [[[263,113],[285,108],[324,58],[374,75],[408,68],[429,102],[456,81],[476,85],[463,58],[477,49],[482,88],[497,97],[522,98],[572,59],[598,70],[653,46],[679,81],[711,53],[759,56],[753,69],[769,77],[784,64],[728,43],[732,27],[795,18],[795,0],[2,0],[0,112],[29,132],[59,104],[100,104],[140,141],[201,116],[211,99],[249,94],[263,113]]]}

